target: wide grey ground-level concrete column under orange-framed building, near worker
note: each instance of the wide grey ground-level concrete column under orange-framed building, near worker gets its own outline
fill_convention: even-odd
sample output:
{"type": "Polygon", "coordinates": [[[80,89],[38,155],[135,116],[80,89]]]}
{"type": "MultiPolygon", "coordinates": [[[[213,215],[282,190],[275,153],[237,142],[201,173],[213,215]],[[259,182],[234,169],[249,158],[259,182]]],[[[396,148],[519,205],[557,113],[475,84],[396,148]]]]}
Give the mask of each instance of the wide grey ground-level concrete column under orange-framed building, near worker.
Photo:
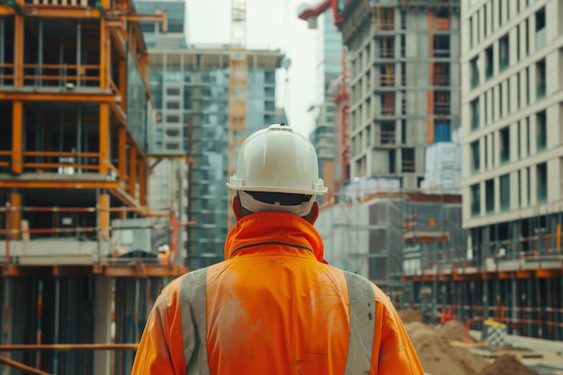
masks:
{"type": "MultiPolygon", "coordinates": [[[[96,275],[94,281],[94,343],[110,344],[112,342],[112,279],[96,275]]],[[[111,373],[111,352],[94,352],[94,375],[111,373]]]]}

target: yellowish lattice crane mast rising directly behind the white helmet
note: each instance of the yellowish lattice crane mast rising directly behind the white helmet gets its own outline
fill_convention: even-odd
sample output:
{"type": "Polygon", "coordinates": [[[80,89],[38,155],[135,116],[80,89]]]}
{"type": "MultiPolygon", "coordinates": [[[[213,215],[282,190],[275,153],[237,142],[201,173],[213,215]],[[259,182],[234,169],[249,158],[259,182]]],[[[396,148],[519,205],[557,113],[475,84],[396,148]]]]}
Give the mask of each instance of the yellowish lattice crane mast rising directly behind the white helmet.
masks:
{"type": "MultiPolygon", "coordinates": [[[[228,55],[228,176],[235,173],[238,149],[246,138],[246,0],[231,0],[231,36],[228,55]]],[[[234,193],[228,190],[227,228],[235,224],[230,208],[234,193]]]]}

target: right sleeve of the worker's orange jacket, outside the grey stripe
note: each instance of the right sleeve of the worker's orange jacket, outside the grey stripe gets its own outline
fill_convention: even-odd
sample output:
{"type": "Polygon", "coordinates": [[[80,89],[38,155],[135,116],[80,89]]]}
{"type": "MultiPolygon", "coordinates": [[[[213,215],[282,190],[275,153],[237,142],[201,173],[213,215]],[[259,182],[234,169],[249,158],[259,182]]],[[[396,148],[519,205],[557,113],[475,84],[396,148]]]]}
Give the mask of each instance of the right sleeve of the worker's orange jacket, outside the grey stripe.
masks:
{"type": "MultiPolygon", "coordinates": [[[[384,293],[380,291],[380,294],[384,293]]],[[[424,375],[415,347],[389,297],[376,297],[376,307],[379,308],[376,315],[381,326],[372,354],[378,358],[378,365],[377,369],[372,369],[371,375],[424,375]]]]}

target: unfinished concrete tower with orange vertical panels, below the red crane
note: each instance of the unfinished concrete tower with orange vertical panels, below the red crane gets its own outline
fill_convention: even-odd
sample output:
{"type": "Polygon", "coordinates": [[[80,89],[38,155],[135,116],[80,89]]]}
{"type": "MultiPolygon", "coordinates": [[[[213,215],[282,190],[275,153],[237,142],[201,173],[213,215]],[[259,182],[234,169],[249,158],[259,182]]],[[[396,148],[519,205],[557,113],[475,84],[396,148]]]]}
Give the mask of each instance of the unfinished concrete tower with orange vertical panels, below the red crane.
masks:
{"type": "Polygon", "coordinates": [[[358,1],[340,30],[349,50],[350,179],[417,188],[424,147],[460,126],[459,1],[358,1]]]}

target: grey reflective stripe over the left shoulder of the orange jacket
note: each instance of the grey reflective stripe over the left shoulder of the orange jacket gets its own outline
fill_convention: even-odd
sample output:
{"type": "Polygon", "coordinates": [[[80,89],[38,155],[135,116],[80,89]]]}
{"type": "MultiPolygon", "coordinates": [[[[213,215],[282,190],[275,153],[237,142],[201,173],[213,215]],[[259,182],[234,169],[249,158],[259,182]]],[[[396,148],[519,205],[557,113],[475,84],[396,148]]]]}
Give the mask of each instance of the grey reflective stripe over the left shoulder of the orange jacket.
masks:
{"type": "Polygon", "coordinates": [[[187,375],[210,374],[206,332],[207,270],[202,268],[185,274],[180,290],[183,357],[187,375]]]}

